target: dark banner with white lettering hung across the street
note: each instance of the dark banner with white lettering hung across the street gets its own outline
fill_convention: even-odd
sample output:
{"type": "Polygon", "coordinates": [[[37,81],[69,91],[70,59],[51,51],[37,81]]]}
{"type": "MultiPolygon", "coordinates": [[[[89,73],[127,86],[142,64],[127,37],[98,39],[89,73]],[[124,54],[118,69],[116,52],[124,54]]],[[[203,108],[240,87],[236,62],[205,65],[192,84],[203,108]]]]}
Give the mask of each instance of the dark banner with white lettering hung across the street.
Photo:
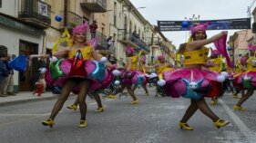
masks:
{"type": "Polygon", "coordinates": [[[200,20],[200,21],[158,21],[159,30],[189,31],[195,24],[210,22],[207,30],[251,29],[251,18],[200,20]]]}

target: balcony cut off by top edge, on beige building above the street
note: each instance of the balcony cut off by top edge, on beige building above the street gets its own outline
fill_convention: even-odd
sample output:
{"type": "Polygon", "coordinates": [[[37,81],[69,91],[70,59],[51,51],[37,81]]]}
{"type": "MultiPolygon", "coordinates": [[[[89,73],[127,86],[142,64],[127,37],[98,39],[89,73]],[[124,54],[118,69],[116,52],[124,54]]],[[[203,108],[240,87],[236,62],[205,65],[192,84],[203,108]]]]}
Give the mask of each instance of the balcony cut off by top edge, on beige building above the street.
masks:
{"type": "Polygon", "coordinates": [[[91,13],[107,12],[107,0],[83,0],[80,5],[91,13]]]}

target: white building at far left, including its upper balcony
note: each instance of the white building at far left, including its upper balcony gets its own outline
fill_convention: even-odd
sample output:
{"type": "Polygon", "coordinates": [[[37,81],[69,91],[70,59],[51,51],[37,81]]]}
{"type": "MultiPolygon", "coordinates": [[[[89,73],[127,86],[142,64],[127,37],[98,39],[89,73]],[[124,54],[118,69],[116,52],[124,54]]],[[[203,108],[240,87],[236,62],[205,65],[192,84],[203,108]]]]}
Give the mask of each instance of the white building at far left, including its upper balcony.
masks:
{"type": "MultiPolygon", "coordinates": [[[[50,23],[50,5],[40,1],[2,0],[0,7],[0,44],[13,58],[19,54],[42,53],[46,29],[50,23]]],[[[26,72],[15,71],[15,91],[31,91],[36,63],[26,72]]]]}

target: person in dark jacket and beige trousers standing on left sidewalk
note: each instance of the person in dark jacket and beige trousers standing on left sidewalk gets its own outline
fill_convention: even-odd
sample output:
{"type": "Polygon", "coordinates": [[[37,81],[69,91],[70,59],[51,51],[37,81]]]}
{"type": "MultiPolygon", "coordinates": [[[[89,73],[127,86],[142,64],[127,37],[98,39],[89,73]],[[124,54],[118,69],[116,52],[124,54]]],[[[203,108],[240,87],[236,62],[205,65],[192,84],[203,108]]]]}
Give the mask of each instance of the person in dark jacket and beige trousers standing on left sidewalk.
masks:
{"type": "Polygon", "coordinates": [[[3,61],[5,63],[6,70],[8,71],[8,76],[5,77],[5,85],[3,89],[3,95],[11,95],[15,96],[14,93],[14,69],[9,66],[9,62],[11,61],[11,55],[8,54],[5,60],[3,61]]]}

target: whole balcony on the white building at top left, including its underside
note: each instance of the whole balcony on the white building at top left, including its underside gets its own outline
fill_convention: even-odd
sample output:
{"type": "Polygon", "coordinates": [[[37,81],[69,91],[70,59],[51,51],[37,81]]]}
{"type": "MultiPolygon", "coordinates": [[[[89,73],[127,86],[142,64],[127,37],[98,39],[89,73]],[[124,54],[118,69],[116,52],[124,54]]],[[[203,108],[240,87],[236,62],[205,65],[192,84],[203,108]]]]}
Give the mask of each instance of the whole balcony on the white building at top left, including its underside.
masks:
{"type": "Polygon", "coordinates": [[[50,26],[51,5],[47,5],[40,0],[20,0],[20,4],[18,18],[42,29],[50,26]]]}

